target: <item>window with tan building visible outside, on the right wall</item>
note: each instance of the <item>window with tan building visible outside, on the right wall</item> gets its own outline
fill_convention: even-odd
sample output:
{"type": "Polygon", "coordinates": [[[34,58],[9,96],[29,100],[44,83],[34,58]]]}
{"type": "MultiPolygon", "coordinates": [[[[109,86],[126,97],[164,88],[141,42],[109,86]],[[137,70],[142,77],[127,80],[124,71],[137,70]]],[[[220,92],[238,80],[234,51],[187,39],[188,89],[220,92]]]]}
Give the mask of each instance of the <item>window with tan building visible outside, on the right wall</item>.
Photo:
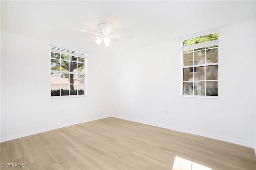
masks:
{"type": "Polygon", "coordinates": [[[218,33],[182,40],[182,95],[218,96],[218,33]]]}

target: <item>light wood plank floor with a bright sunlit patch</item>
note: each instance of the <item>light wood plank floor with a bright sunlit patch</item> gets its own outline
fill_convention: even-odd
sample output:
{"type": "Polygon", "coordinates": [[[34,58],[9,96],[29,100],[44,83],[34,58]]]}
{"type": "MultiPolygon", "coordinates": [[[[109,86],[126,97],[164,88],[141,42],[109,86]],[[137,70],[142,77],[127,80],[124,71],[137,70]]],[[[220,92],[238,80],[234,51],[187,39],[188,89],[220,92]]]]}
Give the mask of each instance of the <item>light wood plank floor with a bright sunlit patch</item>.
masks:
{"type": "Polygon", "coordinates": [[[3,170],[256,170],[252,148],[114,117],[0,145],[3,170]]]}

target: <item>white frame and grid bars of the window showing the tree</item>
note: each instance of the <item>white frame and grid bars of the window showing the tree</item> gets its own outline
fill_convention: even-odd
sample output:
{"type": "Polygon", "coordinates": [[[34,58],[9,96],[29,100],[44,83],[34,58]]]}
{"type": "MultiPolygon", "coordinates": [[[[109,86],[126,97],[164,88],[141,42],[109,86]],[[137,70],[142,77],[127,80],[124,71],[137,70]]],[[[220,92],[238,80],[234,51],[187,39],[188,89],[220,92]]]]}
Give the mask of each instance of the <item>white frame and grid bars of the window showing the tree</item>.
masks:
{"type": "MultiPolygon", "coordinates": [[[[51,48],[51,53],[60,53],[60,54],[66,54],[66,55],[71,55],[74,57],[80,57],[80,58],[84,58],[84,73],[75,73],[75,72],[70,72],[70,71],[52,71],[50,69],[51,74],[52,73],[60,73],[61,74],[66,74],[66,73],[74,73],[74,74],[80,74],[80,75],[84,75],[84,85],[83,85],[83,89],[84,89],[84,94],[82,95],[60,95],[60,96],[51,96],[51,99],[63,99],[63,98],[77,98],[77,97],[87,97],[87,53],[83,52],[81,50],[74,50],[73,48],[70,47],[63,47],[60,45],[54,45],[51,44],[50,46],[51,48]]],[[[52,57],[50,57],[52,59],[52,57]]],[[[79,63],[79,61],[76,61],[77,63],[79,63]]],[[[61,76],[60,76],[61,77],[61,76]]],[[[52,82],[51,82],[51,89],[52,89],[52,82]]],[[[56,83],[58,84],[58,83],[56,83]]],[[[61,83],[60,83],[61,85],[61,83]]],[[[69,83],[70,85],[70,83],[69,83]]],[[[61,89],[61,88],[60,88],[61,89]]],[[[80,90],[81,88],[79,88],[77,86],[77,90],[80,90]]],[[[69,88],[70,90],[70,88],[69,88]]]]}

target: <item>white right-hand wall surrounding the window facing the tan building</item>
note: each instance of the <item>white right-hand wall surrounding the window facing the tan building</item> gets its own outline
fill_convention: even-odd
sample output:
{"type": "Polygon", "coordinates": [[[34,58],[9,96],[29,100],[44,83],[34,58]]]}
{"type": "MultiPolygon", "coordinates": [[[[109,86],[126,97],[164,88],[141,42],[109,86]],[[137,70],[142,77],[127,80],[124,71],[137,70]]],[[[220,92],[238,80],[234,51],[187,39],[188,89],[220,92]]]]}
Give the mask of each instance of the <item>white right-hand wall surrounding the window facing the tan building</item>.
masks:
{"type": "Polygon", "coordinates": [[[218,29],[218,99],[180,97],[176,39],[113,58],[113,116],[255,148],[255,18],[218,29]]]}

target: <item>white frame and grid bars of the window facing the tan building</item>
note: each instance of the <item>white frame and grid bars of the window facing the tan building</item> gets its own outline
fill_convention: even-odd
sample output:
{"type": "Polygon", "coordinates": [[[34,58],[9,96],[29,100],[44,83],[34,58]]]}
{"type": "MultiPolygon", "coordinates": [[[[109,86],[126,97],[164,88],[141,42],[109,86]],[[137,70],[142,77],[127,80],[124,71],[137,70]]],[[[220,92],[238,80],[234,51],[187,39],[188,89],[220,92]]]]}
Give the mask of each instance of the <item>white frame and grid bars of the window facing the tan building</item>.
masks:
{"type": "MultiPolygon", "coordinates": [[[[181,97],[196,97],[196,98],[218,98],[219,97],[219,93],[218,93],[218,96],[207,96],[206,95],[206,87],[204,87],[204,90],[205,90],[204,96],[203,95],[194,95],[194,86],[193,86],[193,95],[183,95],[183,83],[186,82],[186,81],[183,81],[183,69],[186,68],[186,67],[190,67],[190,66],[184,66],[184,63],[183,63],[184,62],[184,59],[183,59],[183,54],[184,53],[183,53],[183,51],[218,45],[219,44],[219,39],[218,40],[209,41],[209,42],[196,43],[196,44],[187,45],[187,46],[183,46],[183,42],[185,40],[190,40],[190,39],[201,37],[201,36],[207,36],[209,34],[214,34],[214,33],[218,33],[218,30],[212,30],[212,31],[209,31],[209,32],[201,33],[201,34],[194,34],[192,36],[187,36],[187,37],[184,37],[184,38],[181,39],[181,51],[180,51],[180,54],[181,54],[181,58],[180,58],[180,61],[181,61],[181,74],[180,74],[180,76],[181,76],[181,88],[180,88],[180,96],[181,97]]],[[[219,37],[219,34],[218,34],[218,37],[219,37]]],[[[211,64],[204,63],[204,64],[196,65],[196,67],[200,67],[200,66],[206,67],[208,65],[218,65],[219,66],[218,57],[216,59],[217,59],[217,63],[214,63],[214,64],[212,64],[212,63],[211,64]]],[[[190,61],[194,61],[194,60],[195,59],[194,59],[194,54],[193,54],[193,59],[190,60],[190,61]]],[[[193,66],[193,70],[194,70],[194,66],[193,66]]],[[[218,71],[218,73],[219,73],[219,71],[218,71]]],[[[193,79],[194,79],[194,74],[193,74],[193,79]]],[[[209,81],[209,80],[206,80],[206,68],[204,68],[204,82],[207,82],[207,81],[209,81]]],[[[218,79],[214,80],[214,81],[218,82],[218,79]]],[[[200,82],[200,81],[193,80],[192,82],[193,82],[193,85],[194,85],[194,82],[200,82]]],[[[205,83],[205,85],[206,85],[206,83],[205,83]]],[[[218,85],[218,89],[219,89],[219,85],[218,85]]]]}

